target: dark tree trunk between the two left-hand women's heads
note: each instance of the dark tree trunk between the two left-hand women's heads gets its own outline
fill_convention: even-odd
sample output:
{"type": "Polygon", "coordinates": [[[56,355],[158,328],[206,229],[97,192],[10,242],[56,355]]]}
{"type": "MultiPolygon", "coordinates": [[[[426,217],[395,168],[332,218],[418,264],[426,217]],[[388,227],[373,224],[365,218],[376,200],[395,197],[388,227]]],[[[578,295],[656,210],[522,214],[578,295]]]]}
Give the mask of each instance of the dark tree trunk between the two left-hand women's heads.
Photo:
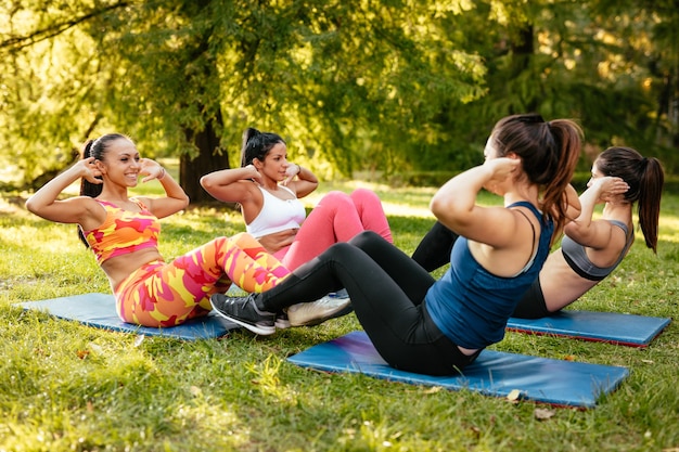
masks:
{"type": "MultiPolygon", "coordinates": [[[[218,121],[221,121],[220,116],[218,116],[218,121]]],[[[198,155],[193,158],[189,154],[181,155],[179,184],[189,195],[191,204],[215,201],[201,186],[201,177],[218,169],[230,168],[229,154],[221,148],[213,121],[208,121],[200,132],[185,130],[185,134],[187,140],[198,148],[198,155]]]]}

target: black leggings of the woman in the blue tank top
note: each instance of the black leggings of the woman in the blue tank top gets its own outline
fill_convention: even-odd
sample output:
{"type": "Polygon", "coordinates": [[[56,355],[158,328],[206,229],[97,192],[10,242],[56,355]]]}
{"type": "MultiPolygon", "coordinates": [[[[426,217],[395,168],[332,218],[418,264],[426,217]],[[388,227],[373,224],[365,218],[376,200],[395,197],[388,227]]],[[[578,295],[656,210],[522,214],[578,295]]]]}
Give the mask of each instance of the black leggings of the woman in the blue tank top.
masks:
{"type": "Polygon", "coordinates": [[[337,243],[258,296],[278,312],[345,287],[356,317],[382,358],[393,367],[452,375],[474,361],[432,322],[423,302],[432,275],[379,234],[366,231],[337,243]]]}

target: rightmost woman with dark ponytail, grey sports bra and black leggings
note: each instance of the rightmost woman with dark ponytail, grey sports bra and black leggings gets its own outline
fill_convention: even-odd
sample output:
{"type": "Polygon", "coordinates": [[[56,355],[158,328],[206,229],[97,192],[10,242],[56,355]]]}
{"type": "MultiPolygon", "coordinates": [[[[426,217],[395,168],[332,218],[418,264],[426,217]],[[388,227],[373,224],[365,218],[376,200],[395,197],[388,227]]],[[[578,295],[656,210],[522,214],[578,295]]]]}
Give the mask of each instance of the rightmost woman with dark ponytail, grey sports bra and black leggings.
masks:
{"type": "MultiPolygon", "coordinates": [[[[635,203],[645,245],[655,253],[664,180],[656,158],[622,146],[601,153],[592,165],[588,189],[580,195],[580,215],[565,227],[561,248],[547,258],[512,317],[539,319],[559,312],[608,276],[635,241],[635,203]],[[601,218],[594,220],[598,204],[604,206],[601,218]]],[[[448,263],[456,240],[454,232],[436,222],[412,258],[433,271],[448,263]]]]}

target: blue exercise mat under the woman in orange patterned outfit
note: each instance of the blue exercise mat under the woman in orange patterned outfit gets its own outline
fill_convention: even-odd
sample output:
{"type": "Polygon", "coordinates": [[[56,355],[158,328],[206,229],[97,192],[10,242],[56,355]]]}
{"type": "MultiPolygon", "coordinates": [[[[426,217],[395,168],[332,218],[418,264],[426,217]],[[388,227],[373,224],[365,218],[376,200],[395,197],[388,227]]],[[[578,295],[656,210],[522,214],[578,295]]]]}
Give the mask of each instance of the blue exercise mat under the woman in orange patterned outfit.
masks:
{"type": "Polygon", "coordinates": [[[60,319],[73,320],[88,326],[148,336],[166,336],[185,340],[220,337],[230,330],[239,328],[235,323],[209,315],[192,319],[179,326],[150,327],[125,323],[118,318],[115,298],[108,294],[84,294],[20,304],[24,309],[46,311],[60,319]]]}

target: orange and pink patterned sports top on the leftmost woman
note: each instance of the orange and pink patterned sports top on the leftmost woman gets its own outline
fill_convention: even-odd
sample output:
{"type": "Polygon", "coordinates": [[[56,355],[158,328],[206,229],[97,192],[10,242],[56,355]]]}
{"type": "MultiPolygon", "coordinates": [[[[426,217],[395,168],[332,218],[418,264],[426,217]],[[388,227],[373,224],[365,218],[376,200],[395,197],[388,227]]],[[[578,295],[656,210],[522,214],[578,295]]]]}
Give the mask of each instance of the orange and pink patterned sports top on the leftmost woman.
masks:
{"type": "Polygon", "coordinates": [[[143,203],[130,199],[141,208],[138,212],[106,201],[95,201],[106,210],[106,220],[97,229],[84,231],[84,235],[97,262],[101,264],[112,257],[158,246],[161,223],[143,203]]]}

